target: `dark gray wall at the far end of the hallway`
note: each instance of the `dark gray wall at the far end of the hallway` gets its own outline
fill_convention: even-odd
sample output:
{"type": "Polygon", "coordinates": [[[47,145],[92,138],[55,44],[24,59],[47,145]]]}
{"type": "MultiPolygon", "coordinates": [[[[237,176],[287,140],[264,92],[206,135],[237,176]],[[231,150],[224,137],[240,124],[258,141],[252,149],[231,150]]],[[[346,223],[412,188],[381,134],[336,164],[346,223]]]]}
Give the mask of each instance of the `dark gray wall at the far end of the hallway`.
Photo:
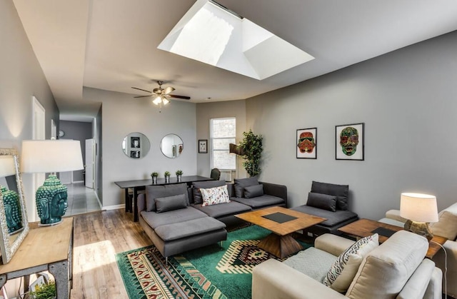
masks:
{"type": "MultiPolygon", "coordinates": [[[[60,121],[60,129],[65,132],[63,139],[78,140],[81,143],[83,163],[86,163],[86,139],[92,138],[92,123],[81,121],[60,121]]],[[[84,181],[83,171],[73,171],[73,181],[84,181]]]]}

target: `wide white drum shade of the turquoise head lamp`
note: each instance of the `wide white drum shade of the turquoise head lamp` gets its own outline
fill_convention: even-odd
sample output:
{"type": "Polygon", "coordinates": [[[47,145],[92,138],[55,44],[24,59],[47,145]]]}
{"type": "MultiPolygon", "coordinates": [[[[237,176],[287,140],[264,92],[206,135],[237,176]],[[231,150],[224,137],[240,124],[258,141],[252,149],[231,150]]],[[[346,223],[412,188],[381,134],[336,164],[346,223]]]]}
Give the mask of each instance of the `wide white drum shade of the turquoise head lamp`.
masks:
{"type": "Polygon", "coordinates": [[[54,173],[83,169],[81,144],[74,140],[22,141],[21,171],[54,173]]]}

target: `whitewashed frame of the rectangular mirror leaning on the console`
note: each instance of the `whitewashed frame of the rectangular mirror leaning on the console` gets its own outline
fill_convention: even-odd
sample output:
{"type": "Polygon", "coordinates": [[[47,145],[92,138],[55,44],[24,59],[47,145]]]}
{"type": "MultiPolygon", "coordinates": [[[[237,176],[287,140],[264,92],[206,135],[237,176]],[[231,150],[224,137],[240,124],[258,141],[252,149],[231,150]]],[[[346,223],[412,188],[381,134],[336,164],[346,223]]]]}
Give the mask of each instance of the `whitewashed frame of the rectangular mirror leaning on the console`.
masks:
{"type": "Polygon", "coordinates": [[[8,263],[13,258],[14,253],[19,249],[22,241],[29,233],[29,221],[27,218],[26,202],[24,199],[24,186],[22,185],[21,172],[19,171],[19,155],[14,148],[0,148],[0,156],[13,156],[14,170],[16,171],[16,184],[19,196],[19,206],[21,207],[22,225],[24,229],[21,230],[13,243],[10,243],[10,235],[8,232],[8,225],[6,225],[5,207],[3,202],[3,195],[0,191],[0,248],[1,258],[3,263],[8,263]]]}

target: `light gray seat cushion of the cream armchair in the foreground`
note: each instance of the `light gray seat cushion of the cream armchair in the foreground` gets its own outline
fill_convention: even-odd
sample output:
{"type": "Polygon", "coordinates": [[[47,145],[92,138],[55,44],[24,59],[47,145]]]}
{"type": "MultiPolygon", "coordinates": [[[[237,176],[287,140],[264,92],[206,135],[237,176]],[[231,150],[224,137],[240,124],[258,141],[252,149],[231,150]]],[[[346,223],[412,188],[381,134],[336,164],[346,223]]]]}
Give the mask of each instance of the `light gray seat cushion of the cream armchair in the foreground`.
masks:
{"type": "Polygon", "coordinates": [[[310,247],[284,260],[283,263],[308,275],[319,283],[323,283],[328,269],[335,263],[336,258],[335,255],[326,251],[310,247]],[[318,260],[318,263],[316,263],[316,260],[318,260]]]}

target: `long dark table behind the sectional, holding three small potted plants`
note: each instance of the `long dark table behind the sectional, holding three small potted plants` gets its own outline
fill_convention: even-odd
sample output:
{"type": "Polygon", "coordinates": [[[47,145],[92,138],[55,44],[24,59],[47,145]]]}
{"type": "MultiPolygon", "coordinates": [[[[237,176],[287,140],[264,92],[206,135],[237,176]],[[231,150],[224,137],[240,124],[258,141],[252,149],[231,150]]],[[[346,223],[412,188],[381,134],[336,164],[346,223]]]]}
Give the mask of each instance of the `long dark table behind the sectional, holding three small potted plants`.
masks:
{"type": "MultiPolygon", "coordinates": [[[[154,186],[163,186],[163,185],[173,185],[177,183],[187,183],[187,186],[191,186],[192,182],[200,182],[200,181],[213,181],[213,178],[206,178],[206,176],[183,176],[181,177],[181,181],[176,179],[176,176],[170,177],[169,183],[165,183],[165,178],[157,178],[157,183],[154,186]]],[[[114,182],[119,188],[123,188],[125,190],[125,203],[126,203],[126,212],[131,212],[131,201],[129,200],[129,189],[134,190],[134,221],[138,221],[138,191],[146,189],[146,186],[152,185],[152,178],[148,180],[136,180],[136,181],[121,181],[121,182],[114,182]]]]}

